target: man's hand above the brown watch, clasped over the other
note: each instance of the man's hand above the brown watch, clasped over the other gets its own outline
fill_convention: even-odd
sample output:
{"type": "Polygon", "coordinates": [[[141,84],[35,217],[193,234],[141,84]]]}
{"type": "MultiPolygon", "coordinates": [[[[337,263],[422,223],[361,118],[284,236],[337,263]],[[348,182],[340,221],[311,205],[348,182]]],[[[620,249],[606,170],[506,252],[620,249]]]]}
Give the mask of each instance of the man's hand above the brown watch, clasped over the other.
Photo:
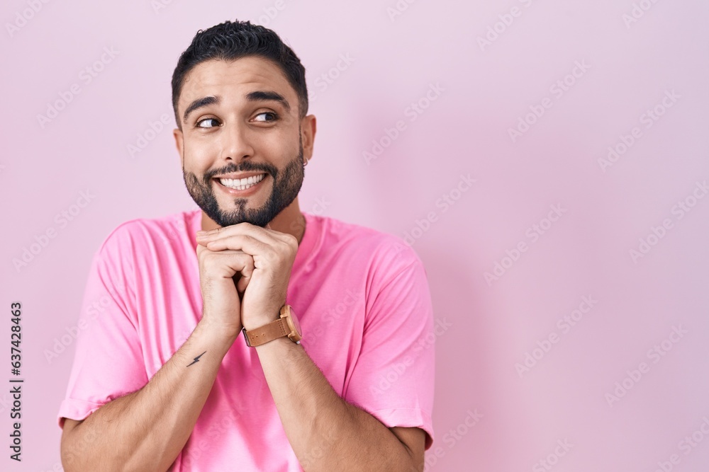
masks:
{"type": "Polygon", "coordinates": [[[197,241],[213,253],[238,251],[252,258],[252,271],[247,272],[250,277],[245,281],[241,301],[241,322],[247,330],[279,318],[298,253],[295,236],[275,231],[269,225],[262,228],[239,223],[198,234],[197,241]]]}

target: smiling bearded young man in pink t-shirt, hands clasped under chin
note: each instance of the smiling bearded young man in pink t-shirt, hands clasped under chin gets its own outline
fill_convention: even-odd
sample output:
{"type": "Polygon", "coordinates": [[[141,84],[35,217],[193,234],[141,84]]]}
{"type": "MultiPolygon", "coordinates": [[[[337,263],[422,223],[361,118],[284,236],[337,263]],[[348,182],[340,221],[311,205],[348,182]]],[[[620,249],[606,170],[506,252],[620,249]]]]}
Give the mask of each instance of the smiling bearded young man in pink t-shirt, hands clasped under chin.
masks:
{"type": "Polygon", "coordinates": [[[65,470],[423,470],[426,272],[400,238],[298,208],[316,118],[296,54],[227,21],[197,33],[172,96],[200,209],[121,224],[94,255],[65,470]]]}

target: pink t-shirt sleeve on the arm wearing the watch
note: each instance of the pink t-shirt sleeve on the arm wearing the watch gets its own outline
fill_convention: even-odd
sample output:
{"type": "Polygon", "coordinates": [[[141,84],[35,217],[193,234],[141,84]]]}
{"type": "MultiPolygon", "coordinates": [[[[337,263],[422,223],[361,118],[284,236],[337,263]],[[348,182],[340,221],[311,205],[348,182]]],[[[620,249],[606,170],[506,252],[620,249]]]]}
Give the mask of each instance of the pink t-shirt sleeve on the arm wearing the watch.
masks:
{"type": "Polygon", "coordinates": [[[433,442],[435,333],[427,274],[410,246],[377,258],[362,347],[343,395],[386,427],[420,427],[433,442]]]}

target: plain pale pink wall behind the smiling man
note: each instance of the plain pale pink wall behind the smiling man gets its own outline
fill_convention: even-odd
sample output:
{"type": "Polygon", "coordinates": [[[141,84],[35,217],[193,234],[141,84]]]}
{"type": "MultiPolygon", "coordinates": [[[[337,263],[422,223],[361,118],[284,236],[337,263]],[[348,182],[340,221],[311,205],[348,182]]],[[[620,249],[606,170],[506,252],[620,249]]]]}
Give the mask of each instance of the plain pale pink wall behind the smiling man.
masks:
{"type": "Polygon", "coordinates": [[[4,1],[0,14],[0,468],[61,470],[55,415],[73,340],[51,362],[45,354],[84,316],[91,256],[113,228],[195,207],[170,79],[197,30],[238,18],[273,28],[307,69],[318,133],[301,209],[415,238],[435,317],[450,324],[436,341],[427,470],[549,470],[542,460],[554,471],[707,470],[709,199],[693,192],[703,197],[696,183],[709,180],[709,3],[638,0],[626,24],[631,0],[400,0],[396,16],[396,0],[33,1],[4,1]],[[89,83],[81,71],[104,47],[116,55],[89,83]],[[80,93],[40,125],[74,84],[80,93]],[[426,108],[412,114],[419,100],[426,108]],[[544,113],[513,140],[532,110],[544,113]],[[150,140],[131,156],[139,135],[150,140]],[[602,168],[623,139],[630,148],[602,168]],[[386,147],[367,163],[373,140],[386,147]],[[57,221],[86,190],[89,205],[57,221]],[[553,205],[557,221],[545,219],[553,205]],[[48,229],[55,238],[16,270],[13,258],[48,229]],[[633,260],[641,238],[652,246],[633,260]],[[496,263],[504,273],[488,282],[496,263]],[[596,301],[590,310],[582,297],[596,301]],[[21,464],[7,447],[11,301],[23,304],[21,464]],[[579,306],[587,313],[564,324],[579,306]],[[520,375],[527,353],[537,359],[520,375]],[[609,401],[624,380],[630,389],[609,401]]]}

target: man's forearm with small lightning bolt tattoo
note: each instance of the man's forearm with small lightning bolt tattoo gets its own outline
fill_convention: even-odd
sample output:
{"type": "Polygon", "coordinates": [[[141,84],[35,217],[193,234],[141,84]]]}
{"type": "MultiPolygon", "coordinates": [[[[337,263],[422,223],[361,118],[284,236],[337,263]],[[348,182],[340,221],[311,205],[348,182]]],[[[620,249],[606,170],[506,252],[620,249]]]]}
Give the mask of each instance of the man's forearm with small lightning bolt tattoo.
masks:
{"type": "Polygon", "coordinates": [[[231,343],[198,323],[143,388],[101,406],[62,440],[65,470],[166,471],[187,442],[231,343]]]}

